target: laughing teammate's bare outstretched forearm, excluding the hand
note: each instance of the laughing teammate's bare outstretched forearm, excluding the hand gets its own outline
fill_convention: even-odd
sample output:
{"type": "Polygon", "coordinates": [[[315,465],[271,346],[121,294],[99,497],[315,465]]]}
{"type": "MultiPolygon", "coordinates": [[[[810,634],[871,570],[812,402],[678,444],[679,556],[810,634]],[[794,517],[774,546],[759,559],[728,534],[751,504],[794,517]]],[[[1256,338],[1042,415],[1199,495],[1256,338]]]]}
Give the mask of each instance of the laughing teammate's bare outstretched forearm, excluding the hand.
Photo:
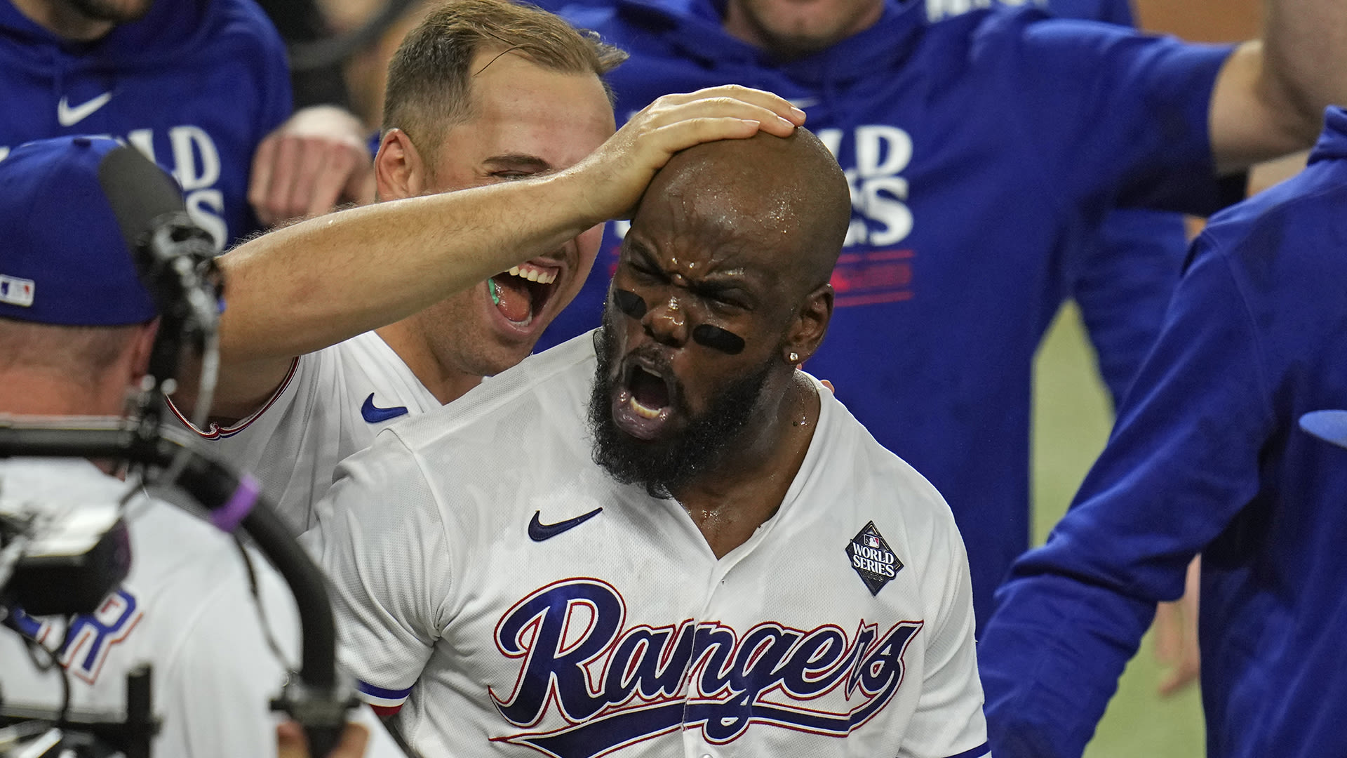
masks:
{"type": "Polygon", "coordinates": [[[356,208],[220,259],[221,359],[302,355],[384,326],[602,221],[568,173],[356,208]]]}

